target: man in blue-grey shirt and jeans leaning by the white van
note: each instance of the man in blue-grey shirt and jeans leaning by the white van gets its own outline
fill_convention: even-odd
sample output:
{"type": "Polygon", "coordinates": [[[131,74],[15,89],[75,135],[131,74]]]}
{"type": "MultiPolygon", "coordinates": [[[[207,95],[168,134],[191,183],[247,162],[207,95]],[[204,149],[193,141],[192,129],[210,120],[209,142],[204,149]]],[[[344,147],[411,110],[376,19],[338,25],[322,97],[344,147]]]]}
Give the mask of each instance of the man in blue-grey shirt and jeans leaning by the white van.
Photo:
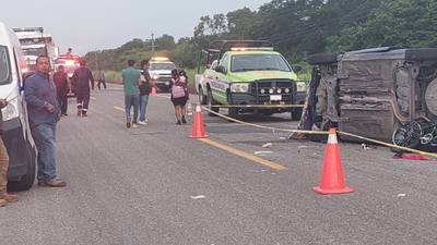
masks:
{"type": "Polygon", "coordinates": [[[36,73],[26,79],[24,91],[31,133],[38,150],[38,185],[63,187],[67,184],[58,179],[56,171],[56,125],[60,109],[49,71],[48,57],[38,57],[36,73]]]}

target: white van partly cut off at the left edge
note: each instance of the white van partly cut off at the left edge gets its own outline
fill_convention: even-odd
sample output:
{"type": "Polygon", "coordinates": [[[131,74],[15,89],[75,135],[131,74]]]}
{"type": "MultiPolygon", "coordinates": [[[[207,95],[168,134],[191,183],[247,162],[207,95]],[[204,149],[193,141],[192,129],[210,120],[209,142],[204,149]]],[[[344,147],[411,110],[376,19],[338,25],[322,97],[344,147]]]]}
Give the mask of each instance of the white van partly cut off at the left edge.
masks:
{"type": "Polygon", "coordinates": [[[23,191],[35,181],[36,147],[31,135],[22,72],[26,71],[19,39],[0,22],[0,98],[9,101],[3,114],[3,140],[10,157],[9,187],[23,191]]]}

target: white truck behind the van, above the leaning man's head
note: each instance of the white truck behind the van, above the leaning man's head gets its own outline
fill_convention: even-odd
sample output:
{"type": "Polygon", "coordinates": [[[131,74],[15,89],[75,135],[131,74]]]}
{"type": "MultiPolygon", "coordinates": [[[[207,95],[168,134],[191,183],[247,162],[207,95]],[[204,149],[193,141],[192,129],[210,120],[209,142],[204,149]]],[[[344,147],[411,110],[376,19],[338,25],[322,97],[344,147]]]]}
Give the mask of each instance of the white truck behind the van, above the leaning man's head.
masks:
{"type": "Polygon", "coordinates": [[[47,56],[51,64],[59,56],[59,48],[55,45],[51,35],[45,34],[43,27],[13,28],[19,37],[27,66],[34,70],[36,58],[47,56]]]}

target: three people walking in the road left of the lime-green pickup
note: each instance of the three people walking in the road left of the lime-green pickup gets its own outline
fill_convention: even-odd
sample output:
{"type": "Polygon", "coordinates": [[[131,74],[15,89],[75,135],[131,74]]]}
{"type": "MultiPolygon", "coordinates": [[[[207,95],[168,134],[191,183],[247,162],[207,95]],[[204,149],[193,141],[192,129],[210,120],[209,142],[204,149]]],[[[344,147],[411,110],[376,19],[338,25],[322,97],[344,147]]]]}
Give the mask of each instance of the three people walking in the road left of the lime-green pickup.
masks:
{"type": "MultiPolygon", "coordinates": [[[[146,125],[146,107],[149,95],[153,88],[157,87],[149,73],[149,60],[140,62],[141,72],[134,68],[135,61],[128,60],[128,68],[121,72],[125,91],[126,126],[138,127],[146,125]],[[131,109],[133,107],[133,118],[131,109]]],[[[189,99],[188,77],[184,71],[173,70],[170,82],[172,102],[175,107],[176,124],[185,124],[186,103],[189,99]]]]}

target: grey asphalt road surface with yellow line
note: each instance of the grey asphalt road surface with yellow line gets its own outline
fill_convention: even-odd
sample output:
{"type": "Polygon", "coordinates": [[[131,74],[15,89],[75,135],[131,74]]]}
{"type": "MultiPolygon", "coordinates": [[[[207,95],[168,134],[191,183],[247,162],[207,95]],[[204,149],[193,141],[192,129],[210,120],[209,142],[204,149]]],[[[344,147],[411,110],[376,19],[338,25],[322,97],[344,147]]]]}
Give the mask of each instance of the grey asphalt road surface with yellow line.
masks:
{"type": "MultiPolygon", "coordinates": [[[[166,95],[151,98],[149,125],[128,130],[122,98],[120,87],[94,91],[88,118],[71,99],[58,133],[68,187],[35,185],[1,208],[0,244],[437,243],[436,161],[341,144],[355,192],[321,196],[311,187],[323,144],[208,115],[209,140],[191,139],[166,95]]],[[[287,118],[243,120],[294,128],[287,118]]]]}

